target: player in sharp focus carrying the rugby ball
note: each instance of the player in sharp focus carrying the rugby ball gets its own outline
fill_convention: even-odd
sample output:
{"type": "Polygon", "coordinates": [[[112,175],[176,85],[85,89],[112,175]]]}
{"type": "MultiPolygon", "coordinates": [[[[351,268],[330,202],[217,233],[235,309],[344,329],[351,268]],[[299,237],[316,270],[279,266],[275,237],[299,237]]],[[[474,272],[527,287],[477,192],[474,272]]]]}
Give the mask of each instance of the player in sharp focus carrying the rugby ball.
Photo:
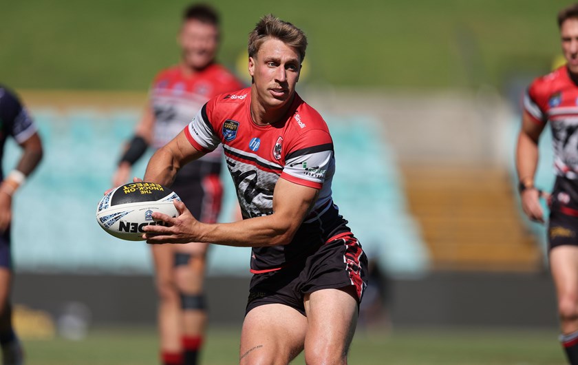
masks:
{"type": "Polygon", "coordinates": [[[200,241],[253,247],[254,274],[239,362],[345,364],[365,289],[367,258],[331,194],[333,142],[323,118],[295,92],[307,39],[268,15],[249,36],[251,87],[202,107],[151,158],[145,180],[170,184],[190,160],[223,145],[244,220],[206,224],[175,203],[171,227],[151,244],[200,241]]]}

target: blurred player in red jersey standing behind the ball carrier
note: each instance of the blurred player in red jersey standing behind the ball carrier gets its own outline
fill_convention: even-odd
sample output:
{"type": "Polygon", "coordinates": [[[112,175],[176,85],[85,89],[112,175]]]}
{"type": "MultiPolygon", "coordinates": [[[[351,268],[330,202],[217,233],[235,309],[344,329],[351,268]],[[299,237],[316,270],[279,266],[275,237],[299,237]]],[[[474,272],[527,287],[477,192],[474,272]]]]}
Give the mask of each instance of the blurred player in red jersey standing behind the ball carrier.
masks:
{"type": "MultiPolygon", "coordinates": [[[[186,8],[178,34],[181,62],[162,70],[154,79],[149,104],[120,159],[114,186],[128,183],[131,165],[147,146],[159,148],[167,144],[209,98],[243,87],[231,72],[215,63],[219,39],[219,18],[213,8],[186,8]]],[[[202,222],[216,222],[220,212],[221,165],[222,149],[187,165],[175,177],[173,190],[202,222]]],[[[161,357],[166,365],[197,364],[206,322],[206,249],[206,243],[152,248],[160,298],[161,357]]]]}

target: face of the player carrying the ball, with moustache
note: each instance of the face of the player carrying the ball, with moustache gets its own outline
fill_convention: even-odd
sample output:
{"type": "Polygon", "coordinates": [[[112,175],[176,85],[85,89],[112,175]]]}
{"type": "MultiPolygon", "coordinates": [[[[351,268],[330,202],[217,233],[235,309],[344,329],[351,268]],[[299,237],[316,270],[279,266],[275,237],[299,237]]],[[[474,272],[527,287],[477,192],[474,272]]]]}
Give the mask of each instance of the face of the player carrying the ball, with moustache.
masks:
{"type": "Polygon", "coordinates": [[[279,39],[266,39],[257,55],[249,57],[253,87],[257,89],[259,103],[265,107],[280,107],[292,100],[300,70],[297,50],[279,39]]]}

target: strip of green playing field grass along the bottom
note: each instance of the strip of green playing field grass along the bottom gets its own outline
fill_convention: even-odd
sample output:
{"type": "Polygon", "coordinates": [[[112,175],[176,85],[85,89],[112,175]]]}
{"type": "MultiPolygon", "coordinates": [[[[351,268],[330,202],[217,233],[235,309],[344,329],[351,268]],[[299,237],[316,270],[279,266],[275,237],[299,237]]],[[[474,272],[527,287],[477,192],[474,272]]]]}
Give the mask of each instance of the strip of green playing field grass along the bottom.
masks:
{"type": "MultiPolygon", "coordinates": [[[[213,328],[203,352],[204,365],[237,363],[240,328],[213,328]]],[[[153,328],[99,329],[86,340],[25,341],[28,365],[158,364],[153,328]]],[[[352,365],[556,365],[564,357],[555,331],[534,330],[358,330],[352,365]]],[[[305,364],[300,355],[292,364],[305,364]]]]}

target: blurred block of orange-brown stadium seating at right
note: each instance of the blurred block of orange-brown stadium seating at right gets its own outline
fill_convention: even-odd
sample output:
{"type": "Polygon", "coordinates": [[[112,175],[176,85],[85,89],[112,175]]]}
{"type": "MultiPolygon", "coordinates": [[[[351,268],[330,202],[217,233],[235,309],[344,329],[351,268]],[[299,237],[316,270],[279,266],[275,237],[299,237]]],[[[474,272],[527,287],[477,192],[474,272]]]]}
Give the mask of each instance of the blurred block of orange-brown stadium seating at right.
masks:
{"type": "Polygon", "coordinates": [[[411,211],[433,269],[535,271],[542,251],[522,222],[511,174],[501,167],[404,168],[411,211]]]}

